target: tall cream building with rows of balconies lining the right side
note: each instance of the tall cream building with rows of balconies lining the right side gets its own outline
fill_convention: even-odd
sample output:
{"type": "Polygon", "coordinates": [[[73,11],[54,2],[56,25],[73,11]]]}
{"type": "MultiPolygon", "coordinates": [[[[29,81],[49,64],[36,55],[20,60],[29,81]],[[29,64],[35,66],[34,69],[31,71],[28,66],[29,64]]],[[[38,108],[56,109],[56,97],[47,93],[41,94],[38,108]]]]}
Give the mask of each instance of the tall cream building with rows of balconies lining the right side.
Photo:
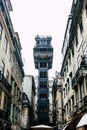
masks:
{"type": "Polygon", "coordinates": [[[87,1],[73,0],[62,46],[64,130],[87,112],[87,1]]]}

